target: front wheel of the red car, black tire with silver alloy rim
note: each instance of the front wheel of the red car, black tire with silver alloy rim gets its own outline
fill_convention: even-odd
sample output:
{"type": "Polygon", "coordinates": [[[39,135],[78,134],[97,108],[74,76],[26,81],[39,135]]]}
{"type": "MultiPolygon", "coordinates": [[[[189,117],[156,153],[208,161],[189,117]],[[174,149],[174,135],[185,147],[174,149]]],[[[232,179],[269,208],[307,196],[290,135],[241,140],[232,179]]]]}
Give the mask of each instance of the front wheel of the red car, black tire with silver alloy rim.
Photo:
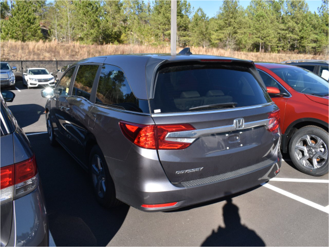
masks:
{"type": "Polygon", "coordinates": [[[295,167],[308,175],[328,173],[328,132],[309,125],[298,129],[290,140],[289,154],[295,167]]]}

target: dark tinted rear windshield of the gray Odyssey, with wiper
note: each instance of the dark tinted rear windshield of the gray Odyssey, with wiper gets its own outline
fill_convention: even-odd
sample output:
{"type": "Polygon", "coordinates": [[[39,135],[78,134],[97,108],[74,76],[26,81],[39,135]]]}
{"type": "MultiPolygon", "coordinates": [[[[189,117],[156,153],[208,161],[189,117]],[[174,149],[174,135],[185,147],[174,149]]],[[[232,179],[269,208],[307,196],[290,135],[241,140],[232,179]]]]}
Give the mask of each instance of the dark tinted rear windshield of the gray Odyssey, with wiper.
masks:
{"type": "Polygon", "coordinates": [[[159,70],[152,113],[191,112],[271,102],[249,68],[229,65],[179,65],[159,70]]]}

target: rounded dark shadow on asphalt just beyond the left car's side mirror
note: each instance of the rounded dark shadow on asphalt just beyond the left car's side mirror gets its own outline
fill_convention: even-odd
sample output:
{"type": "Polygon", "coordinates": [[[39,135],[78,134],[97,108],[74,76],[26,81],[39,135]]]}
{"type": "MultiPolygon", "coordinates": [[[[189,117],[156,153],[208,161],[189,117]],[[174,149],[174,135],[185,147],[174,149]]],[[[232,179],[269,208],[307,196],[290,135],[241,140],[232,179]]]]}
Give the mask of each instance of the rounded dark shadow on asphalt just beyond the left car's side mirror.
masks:
{"type": "Polygon", "coordinates": [[[38,122],[45,110],[44,107],[37,104],[9,105],[8,108],[21,128],[38,122]]]}

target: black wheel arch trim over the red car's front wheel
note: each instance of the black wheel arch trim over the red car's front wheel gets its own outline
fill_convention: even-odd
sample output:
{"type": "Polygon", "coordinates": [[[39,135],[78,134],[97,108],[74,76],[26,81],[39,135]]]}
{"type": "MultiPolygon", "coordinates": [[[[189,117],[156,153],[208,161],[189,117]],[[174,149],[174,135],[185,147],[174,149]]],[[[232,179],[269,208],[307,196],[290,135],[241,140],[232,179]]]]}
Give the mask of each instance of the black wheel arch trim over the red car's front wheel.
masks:
{"type": "Polygon", "coordinates": [[[301,118],[294,122],[292,122],[286,129],[285,134],[282,135],[282,142],[281,142],[281,149],[284,153],[288,151],[289,142],[291,140],[291,137],[296,132],[296,130],[308,126],[308,125],[315,125],[317,127],[320,127],[328,132],[328,123],[316,119],[316,118],[301,118]]]}

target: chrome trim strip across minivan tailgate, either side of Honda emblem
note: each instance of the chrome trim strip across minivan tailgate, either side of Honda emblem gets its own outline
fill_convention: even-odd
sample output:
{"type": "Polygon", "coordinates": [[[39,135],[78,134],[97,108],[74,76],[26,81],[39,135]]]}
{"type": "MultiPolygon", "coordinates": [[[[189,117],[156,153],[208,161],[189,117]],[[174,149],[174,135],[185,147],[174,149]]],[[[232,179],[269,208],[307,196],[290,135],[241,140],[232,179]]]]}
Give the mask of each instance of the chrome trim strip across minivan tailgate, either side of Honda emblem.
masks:
{"type": "MultiPolygon", "coordinates": [[[[244,123],[243,129],[253,128],[253,127],[263,126],[263,125],[265,125],[268,128],[270,120],[271,119],[264,119],[264,120],[244,123]]],[[[234,130],[237,130],[237,129],[235,128],[234,124],[231,124],[231,125],[218,126],[218,127],[213,127],[213,128],[169,132],[166,135],[165,140],[172,141],[172,142],[192,143],[195,139],[197,139],[198,137],[200,137],[202,135],[223,133],[223,132],[229,132],[229,131],[234,131],[234,130]]]]}

